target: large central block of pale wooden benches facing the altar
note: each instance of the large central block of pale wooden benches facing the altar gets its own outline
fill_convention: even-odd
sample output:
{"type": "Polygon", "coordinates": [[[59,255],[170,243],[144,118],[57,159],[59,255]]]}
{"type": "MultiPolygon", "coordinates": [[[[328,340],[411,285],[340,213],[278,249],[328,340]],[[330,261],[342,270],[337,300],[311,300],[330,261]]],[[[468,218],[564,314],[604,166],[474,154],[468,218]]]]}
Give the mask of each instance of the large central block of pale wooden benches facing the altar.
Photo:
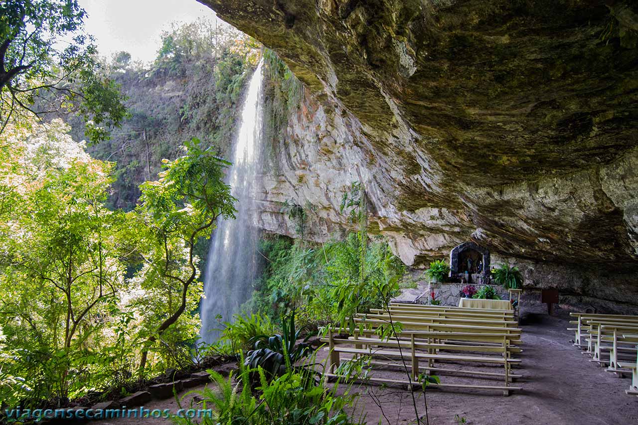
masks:
{"type": "Polygon", "coordinates": [[[338,376],[340,355],[348,354],[369,356],[373,366],[406,364],[409,367],[409,380],[407,377],[399,380],[367,378],[372,382],[420,385],[421,373],[454,373],[463,377],[500,378],[503,385],[443,382],[434,386],[493,389],[503,391],[505,395],[521,389],[511,385],[513,380],[521,377],[512,373],[512,365],[521,363],[521,359],[514,356],[523,351],[519,348],[521,329],[511,310],[392,303],[388,309],[374,309],[352,319],[355,327],[348,332],[339,327],[325,329],[322,341],[327,343],[326,350],[330,353],[329,376],[338,376]],[[394,331],[389,331],[392,326],[394,331]],[[385,336],[382,338],[380,334],[385,336]],[[489,364],[503,368],[503,371],[438,366],[447,362],[474,366],[489,364]]]}

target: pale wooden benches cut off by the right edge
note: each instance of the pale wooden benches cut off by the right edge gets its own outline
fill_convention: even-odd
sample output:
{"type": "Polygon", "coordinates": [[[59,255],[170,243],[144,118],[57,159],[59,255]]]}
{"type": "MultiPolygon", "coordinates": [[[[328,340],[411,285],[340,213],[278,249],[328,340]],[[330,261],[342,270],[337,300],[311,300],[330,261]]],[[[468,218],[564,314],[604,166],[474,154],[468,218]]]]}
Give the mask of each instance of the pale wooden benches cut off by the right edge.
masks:
{"type": "Polygon", "coordinates": [[[638,316],[570,313],[574,345],[607,371],[632,376],[627,394],[638,395],[638,316]]]}

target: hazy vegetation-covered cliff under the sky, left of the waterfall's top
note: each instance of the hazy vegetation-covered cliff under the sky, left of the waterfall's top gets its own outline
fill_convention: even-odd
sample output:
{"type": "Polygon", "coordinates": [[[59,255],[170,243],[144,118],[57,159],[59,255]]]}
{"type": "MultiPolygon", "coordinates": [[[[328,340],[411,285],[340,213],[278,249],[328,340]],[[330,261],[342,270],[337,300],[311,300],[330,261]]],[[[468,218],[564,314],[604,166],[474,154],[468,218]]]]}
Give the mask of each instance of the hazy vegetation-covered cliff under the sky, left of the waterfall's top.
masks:
{"type": "MultiPolygon", "coordinates": [[[[110,140],[87,149],[94,158],[115,162],[112,207],[135,207],[138,186],[159,171],[163,158],[179,154],[177,140],[197,137],[204,147],[228,156],[246,76],[260,53],[260,45],[245,34],[207,20],[174,24],[161,39],[149,68],[131,62],[126,52],[103,64],[103,73],[128,98],[129,112],[110,140]]],[[[63,118],[73,138],[81,140],[80,117],[63,118]]]]}

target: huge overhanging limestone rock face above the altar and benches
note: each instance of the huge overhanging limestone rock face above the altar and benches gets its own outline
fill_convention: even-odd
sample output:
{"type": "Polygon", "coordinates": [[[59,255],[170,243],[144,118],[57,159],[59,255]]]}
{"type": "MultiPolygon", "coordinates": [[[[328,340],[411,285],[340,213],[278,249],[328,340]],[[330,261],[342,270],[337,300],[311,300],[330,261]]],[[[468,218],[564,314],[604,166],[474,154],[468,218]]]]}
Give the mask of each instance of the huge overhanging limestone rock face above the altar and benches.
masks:
{"type": "Polygon", "coordinates": [[[474,240],[589,276],[592,296],[616,285],[601,273],[635,275],[633,3],[200,1],[308,89],[264,179],[263,228],[299,235],[277,206],[294,200],[313,206],[305,236],[325,239],[348,226],[339,204],[359,181],[371,231],[408,265],[474,240]]]}

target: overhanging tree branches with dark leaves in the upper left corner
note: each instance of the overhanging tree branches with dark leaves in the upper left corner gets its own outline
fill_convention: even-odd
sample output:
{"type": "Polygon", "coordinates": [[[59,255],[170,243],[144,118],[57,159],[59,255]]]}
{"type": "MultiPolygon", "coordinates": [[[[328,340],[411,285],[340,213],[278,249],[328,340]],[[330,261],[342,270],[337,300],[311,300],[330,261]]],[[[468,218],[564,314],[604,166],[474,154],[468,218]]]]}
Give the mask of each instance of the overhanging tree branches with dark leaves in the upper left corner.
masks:
{"type": "Polygon", "coordinates": [[[0,0],[0,133],[15,114],[62,109],[84,117],[96,142],[108,138],[105,126],[119,126],[124,98],[99,73],[93,39],[80,32],[84,17],[77,0],[0,0]]]}

